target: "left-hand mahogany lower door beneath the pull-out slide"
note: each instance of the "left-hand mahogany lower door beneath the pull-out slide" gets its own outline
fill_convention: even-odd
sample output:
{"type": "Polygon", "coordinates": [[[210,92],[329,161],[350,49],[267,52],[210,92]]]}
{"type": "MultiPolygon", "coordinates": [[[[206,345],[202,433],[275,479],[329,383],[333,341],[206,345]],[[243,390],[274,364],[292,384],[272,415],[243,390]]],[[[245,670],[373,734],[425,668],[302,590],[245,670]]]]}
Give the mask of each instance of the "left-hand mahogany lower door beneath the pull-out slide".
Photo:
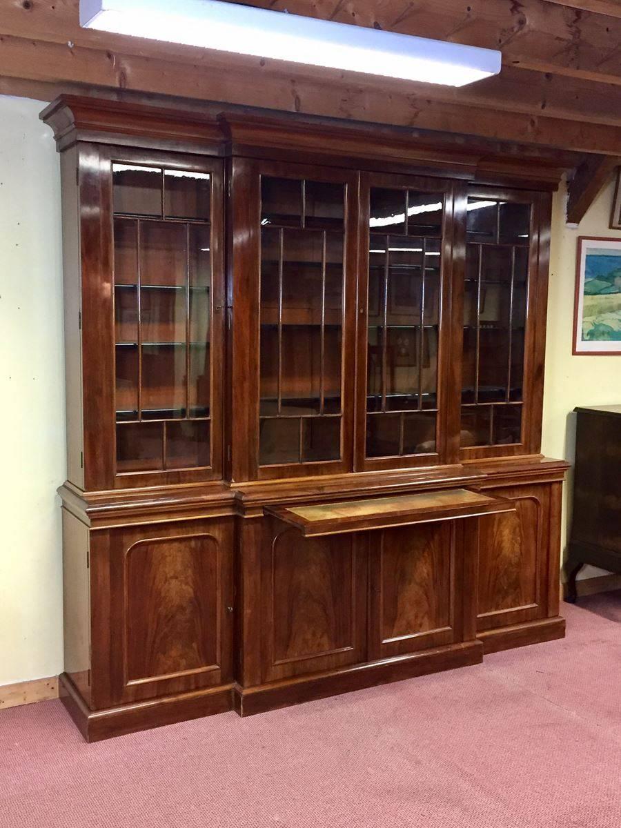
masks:
{"type": "Polygon", "coordinates": [[[263,551],[263,681],[364,660],[365,539],[274,527],[263,551]]]}

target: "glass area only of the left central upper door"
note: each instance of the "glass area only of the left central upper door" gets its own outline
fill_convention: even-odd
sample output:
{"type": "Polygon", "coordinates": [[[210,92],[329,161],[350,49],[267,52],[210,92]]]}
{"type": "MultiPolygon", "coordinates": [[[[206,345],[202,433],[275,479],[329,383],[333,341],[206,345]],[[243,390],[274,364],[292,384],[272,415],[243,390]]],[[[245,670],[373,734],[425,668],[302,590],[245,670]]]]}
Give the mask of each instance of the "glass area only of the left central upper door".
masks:
{"type": "Polygon", "coordinates": [[[261,465],[340,457],[343,222],[344,185],[262,178],[261,465]]]}

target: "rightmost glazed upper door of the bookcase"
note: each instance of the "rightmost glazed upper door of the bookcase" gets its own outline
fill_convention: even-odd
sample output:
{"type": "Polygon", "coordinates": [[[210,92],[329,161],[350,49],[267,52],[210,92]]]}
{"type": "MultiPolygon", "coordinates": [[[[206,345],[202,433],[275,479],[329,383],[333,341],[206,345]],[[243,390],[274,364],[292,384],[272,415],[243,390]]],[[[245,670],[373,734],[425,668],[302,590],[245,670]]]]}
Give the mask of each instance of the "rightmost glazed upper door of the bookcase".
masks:
{"type": "Polygon", "coordinates": [[[536,453],[541,438],[546,195],[470,187],[465,202],[460,455],[536,453]]]}

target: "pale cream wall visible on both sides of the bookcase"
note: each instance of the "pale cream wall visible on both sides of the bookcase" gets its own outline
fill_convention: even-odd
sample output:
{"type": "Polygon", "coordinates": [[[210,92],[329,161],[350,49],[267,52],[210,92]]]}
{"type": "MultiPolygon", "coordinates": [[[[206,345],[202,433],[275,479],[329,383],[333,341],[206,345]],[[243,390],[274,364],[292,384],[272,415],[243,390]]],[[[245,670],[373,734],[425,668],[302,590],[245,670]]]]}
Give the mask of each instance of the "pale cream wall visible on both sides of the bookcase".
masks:
{"type": "MultiPolygon", "coordinates": [[[[0,685],[62,670],[60,182],[51,131],[38,119],[43,106],[0,96],[0,685]]],[[[567,460],[572,409],[621,402],[621,357],[571,356],[575,239],[615,235],[612,187],[577,230],[565,226],[564,190],[555,197],[543,450],[567,460]]]]}

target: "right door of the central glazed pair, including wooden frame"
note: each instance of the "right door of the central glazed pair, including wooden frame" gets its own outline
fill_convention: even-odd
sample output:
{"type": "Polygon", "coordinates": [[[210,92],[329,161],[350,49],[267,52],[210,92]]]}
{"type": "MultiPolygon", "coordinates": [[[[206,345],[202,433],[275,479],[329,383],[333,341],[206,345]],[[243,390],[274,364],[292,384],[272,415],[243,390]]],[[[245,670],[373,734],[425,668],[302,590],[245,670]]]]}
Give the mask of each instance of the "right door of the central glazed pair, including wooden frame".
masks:
{"type": "Polygon", "coordinates": [[[356,468],[447,460],[452,184],[361,178],[356,468]]]}

